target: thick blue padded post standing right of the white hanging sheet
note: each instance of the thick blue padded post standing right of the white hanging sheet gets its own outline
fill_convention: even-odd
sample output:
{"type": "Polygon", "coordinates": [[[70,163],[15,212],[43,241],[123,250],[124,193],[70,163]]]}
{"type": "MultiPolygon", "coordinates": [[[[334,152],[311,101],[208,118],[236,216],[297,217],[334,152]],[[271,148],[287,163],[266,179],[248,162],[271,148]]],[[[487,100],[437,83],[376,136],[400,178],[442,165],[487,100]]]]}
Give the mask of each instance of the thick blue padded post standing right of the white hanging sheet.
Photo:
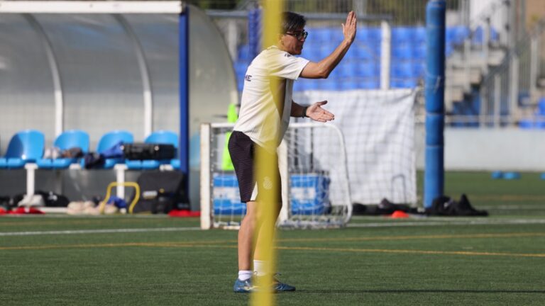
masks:
{"type": "Polygon", "coordinates": [[[444,193],[445,0],[426,5],[426,162],[424,208],[444,193]]]}

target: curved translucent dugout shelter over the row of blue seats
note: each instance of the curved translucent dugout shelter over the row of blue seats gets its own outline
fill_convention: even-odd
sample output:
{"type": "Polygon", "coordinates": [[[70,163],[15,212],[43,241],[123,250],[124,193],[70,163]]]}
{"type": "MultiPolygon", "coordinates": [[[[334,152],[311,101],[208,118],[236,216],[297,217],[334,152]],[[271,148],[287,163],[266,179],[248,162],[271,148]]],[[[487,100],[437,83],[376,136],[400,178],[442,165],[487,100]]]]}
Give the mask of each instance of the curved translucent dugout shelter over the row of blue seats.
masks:
{"type": "MultiPolygon", "coordinates": [[[[45,147],[65,130],[84,130],[91,150],[111,130],[136,142],[172,130],[181,170],[198,176],[199,123],[238,100],[221,33],[184,2],[0,1],[0,39],[0,155],[20,130],[43,132],[45,147]]],[[[24,171],[0,172],[1,194],[24,189],[24,171]]],[[[89,196],[104,193],[97,182],[115,181],[81,172],[89,196]]],[[[49,176],[38,169],[37,188],[53,189],[49,176]]]]}

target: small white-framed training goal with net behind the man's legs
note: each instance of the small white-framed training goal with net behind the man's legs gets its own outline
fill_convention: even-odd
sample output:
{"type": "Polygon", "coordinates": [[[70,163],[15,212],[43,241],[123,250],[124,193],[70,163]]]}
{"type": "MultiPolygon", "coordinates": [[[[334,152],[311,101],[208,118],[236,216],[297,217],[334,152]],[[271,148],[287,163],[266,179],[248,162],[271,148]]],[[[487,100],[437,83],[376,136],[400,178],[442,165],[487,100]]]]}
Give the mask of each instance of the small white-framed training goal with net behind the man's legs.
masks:
{"type": "MultiPolygon", "coordinates": [[[[237,229],[246,213],[232,169],[222,165],[232,123],[201,125],[201,227],[237,229]]],[[[277,149],[282,177],[279,227],[343,227],[352,201],[343,134],[335,125],[291,123],[277,149]]]]}

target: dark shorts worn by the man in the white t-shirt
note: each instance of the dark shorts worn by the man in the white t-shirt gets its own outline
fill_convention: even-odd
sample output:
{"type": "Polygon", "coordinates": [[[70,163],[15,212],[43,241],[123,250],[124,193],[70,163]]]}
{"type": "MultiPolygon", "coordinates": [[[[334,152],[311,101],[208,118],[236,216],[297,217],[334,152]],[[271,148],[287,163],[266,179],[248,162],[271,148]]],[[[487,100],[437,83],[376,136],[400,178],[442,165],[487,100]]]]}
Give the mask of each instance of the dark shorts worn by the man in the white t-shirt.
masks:
{"type": "Polygon", "coordinates": [[[263,149],[263,147],[255,144],[243,132],[233,131],[231,137],[229,137],[229,154],[235,168],[242,203],[259,200],[260,196],[266,196],[266,193],[269,191],[277,193],[278,202],[282,200],[280,187],[282,185],[280,183],[280,171],[278,170],[278,157],[276,153],[271,154],[263,149]],[[255,178],[255,152],[264,154],[266,159],[275,165],[268,167],[272,169],[272,172],[263,174],[263,178],[260,179],[255,178]],[[271,179],[274,177],[276,179],[271,179]],[[277,182],[277,188],[272,188],[272,181],[277,182]],[[259,183],[256,184],[256,182],[259,183]]]}

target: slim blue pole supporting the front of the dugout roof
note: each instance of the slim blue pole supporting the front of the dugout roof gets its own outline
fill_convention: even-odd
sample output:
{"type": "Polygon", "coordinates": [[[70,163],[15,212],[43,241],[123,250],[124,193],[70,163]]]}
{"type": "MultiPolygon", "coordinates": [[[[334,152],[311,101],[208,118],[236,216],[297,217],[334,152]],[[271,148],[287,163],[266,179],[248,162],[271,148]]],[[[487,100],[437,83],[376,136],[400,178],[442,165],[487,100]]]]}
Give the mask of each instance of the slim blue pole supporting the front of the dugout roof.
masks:
{"type": "Polygon", "coordinates": [[[184,7],[179,21],[180,146],[178,154],[180,171],[185,174],[187,183],[189,181],[189,6],[184,7]]]}

